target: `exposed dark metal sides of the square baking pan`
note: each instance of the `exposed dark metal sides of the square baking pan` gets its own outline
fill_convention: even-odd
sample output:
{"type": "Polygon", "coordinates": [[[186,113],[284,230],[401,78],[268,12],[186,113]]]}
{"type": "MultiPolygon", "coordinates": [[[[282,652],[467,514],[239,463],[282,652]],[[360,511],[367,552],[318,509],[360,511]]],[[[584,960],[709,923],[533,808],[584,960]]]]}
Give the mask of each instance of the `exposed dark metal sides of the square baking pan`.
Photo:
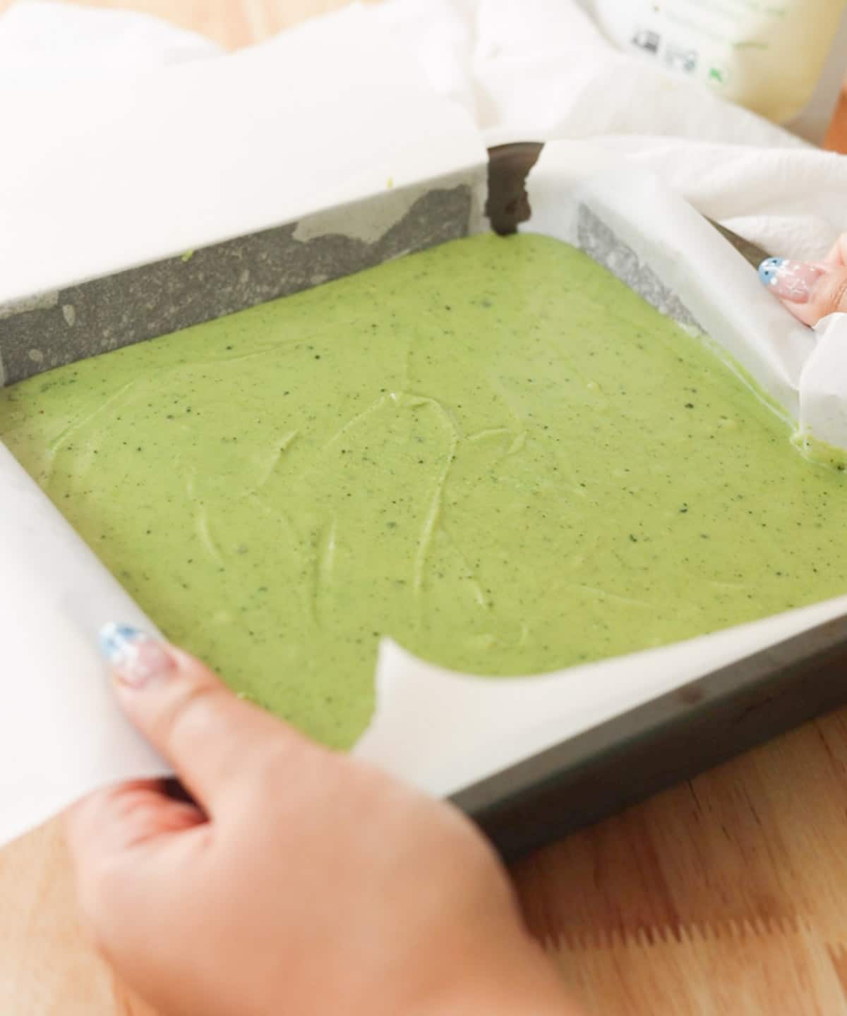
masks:
{"type": "MultiPolygon", "coordinates": [[[[540,150],[526,143],[490,152],[486,212],[497,233],[529,218],[524,185],[540,150]]],[[[14,383],[465,236],[483,177],[469,170],[413,193],[386,191],[312,221],[0,306],[0,380],[14,383]],[[377,239],[346,232],[351,215],[374,211],[389,224],[377,239]]],[[[847,618],[688,682],[452,800],[513,859],[843,702],[847,618]]]]}

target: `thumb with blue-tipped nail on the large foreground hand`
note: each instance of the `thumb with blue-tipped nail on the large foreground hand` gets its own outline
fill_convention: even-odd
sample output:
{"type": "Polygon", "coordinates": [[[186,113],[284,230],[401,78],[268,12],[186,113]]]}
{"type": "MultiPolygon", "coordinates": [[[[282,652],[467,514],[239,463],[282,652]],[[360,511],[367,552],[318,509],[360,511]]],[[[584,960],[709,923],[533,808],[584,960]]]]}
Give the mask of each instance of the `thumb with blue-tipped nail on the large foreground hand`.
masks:
{"type": "Polygon", "coordinates": [[[238,792],[254,760],[290,753],[292,764],[319,749],[292,727],[237,698],[199,660],[137,629],[101,634],[121,705],[214,817],[238,792]]]}

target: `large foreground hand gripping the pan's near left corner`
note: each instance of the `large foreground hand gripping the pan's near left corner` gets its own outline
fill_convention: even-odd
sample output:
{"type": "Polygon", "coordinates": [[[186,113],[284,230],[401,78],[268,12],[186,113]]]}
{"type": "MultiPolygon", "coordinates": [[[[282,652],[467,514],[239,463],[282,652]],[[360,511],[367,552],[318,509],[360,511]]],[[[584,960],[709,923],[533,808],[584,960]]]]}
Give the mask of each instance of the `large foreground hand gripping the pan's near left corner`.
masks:
{"type": "Polygon", "coordinates": [[[176,648],[114,626],[104,645],[122,706],[197,802],[138,781],[66,819],[84,919],[162,1016],[573,1016],[459,812],[176,648]]]}

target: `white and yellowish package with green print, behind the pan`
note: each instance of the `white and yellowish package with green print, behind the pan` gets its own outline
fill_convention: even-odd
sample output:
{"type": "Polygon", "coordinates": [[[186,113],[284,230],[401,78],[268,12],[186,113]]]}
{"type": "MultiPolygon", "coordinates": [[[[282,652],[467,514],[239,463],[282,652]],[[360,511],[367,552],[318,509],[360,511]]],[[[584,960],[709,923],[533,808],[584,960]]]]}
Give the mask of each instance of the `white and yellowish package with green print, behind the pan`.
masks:
{"type": "Polygon", "coordinates": [[[582,0],[621,49],[820,143],[847,72],[847,0],[582,0]]]}

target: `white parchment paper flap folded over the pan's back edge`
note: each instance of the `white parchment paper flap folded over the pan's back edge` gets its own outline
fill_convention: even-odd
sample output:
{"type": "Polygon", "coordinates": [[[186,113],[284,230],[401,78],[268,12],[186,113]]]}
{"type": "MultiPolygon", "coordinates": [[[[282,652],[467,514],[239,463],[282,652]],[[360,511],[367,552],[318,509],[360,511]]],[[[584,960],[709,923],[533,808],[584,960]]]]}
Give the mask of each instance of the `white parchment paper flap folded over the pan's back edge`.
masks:
{"type": "Polygon", "coordinates": [[[470,114],[346,20],[108,87],[0,77],[0,306],[483,165],[470,114]]]}

